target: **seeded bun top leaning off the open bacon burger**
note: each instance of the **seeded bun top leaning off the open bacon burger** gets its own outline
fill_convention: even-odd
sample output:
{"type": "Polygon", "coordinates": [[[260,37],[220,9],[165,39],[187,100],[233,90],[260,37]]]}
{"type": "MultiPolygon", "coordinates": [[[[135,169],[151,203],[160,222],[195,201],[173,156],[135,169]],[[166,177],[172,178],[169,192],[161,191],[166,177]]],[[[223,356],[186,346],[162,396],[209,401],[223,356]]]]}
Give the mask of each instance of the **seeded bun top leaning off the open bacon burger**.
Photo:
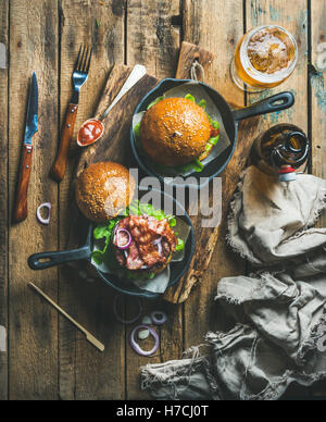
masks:
{"type": "Polygon", "coordinates": [[[95,163],[85,169],[77,179],[76,202],[88,220],[105,222],[129,206],[135,185],[123,165],[95,163]]]}

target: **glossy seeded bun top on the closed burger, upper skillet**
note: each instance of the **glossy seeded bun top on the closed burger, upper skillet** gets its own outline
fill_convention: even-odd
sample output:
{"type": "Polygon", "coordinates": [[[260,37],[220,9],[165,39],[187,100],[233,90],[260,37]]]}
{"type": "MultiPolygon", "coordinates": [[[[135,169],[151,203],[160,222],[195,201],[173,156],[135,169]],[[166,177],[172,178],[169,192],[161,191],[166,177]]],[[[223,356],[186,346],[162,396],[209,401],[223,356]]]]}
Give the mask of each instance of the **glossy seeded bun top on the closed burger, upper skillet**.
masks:
{"type": "Polygon", "coordinates": [[[211,124],[204,110],[186,98],[166,98],[151,107],[140,124],[140,141],[155,162],[177,166],[205,152],[211,124]]]}

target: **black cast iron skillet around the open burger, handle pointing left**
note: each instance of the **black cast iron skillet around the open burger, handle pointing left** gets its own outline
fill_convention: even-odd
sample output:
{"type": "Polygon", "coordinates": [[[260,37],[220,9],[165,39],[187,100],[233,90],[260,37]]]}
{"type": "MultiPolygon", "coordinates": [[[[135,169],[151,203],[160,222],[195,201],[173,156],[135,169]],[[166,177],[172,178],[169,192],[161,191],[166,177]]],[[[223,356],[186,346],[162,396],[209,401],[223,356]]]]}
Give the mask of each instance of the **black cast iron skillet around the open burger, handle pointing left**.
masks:
{"type": "MultiPolygon", "coordinates": [[[[148,191],[149,191],[148,188],[140,187],[139,197],[143,196],[148,191]]],[[[168,287],[171,287],[180,280],[180,277],[188,269],[190,261],[192,259],[193,247],[195,247],[193,228],[192,228],[191,221],[187,212],[185,211],[184,207],[179,202],[177,202],[173,197],[156,189],[151,189],[150,193],[152,195],[155,195],[155,198],[160,200],[160,202],[162,203],[161,209],[164,209],[164,203],[166,203],[164,201],[168,201],[168,203],[172,204],[173,207],[174,215],[177,215],[179,219],[183,219],[190,226],[190,234],[186,244],[184,260],[180,262],[171,263],[171,277],[168,283],[168,287]]],[[[57,266],[57,265],[61,265],[61,264],[74,262],[74,261],[87,260],[90,262],[92,245],[93,245],[92,232],[93,232],[93,225],[89,224],[86,244],[78,249],[57,251],[57,252],[41,252],[41,253],[35,253],[30,256],[28,258],[29,268],[32,270],[45,270],[51,266],[57,266]]],[[[147,299],[156,299],[160,296],[160,294],[156,294],[156,293],[142,290],[131,282],[122,282],[114,274],[103,273],[99,271],[97,268],[95,268],[95,270],[97,271],[100,278],[102,278],[109,286],[113,287],[114,289],[116,289],[122,294],[143,297],[147,299]]]]}

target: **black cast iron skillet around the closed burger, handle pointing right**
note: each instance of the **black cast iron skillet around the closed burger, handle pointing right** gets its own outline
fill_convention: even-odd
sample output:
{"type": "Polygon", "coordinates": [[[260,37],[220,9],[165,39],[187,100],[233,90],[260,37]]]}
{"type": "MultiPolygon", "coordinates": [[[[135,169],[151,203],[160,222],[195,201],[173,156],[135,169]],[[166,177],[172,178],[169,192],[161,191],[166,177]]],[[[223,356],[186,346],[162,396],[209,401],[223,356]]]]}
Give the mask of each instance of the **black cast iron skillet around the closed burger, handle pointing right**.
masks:
{"type": "MultiPolygon", "coordinates": [[[[163,96],[167,90],[190,82],[193,83],[193,80],[190,80],[190,79],[173,79],[173,78],[162,79],[161,83],[149,94],[147,94],[143,97],[143,99],[139,102],[139,104],[135,110],[134,116],[141,111],[146,111],[148,105],[153,100],[155,100],[158,97],[163,96]]],[[[217,92],[215,89],[213,89],[212,87],[210,87],[204,83],[199,83],[199,84],[202,86],[203,89],[205,89],[205,91],[209,94],[209,96],[217,107],[225,128],[225,131],[223,131],[221,136],[228,137],[230,145],[222,154],[220,154],[218,157],[216,157],[216,159],[208,163],[201,173],[195,172],[193,174],[191,174],[191,177],[196,177],[197,179],[196,184],[191,184],[186,179],[185,182],[181,182],[181,181],[172,182],[174,186],[183,186],[183,187],[187,186],[190,188],[204,187],[212,178],[216,177],[226,167],[230,158],[233,157],[236,142],[237,142],[238,124],[240,121],[255,115],[260,115],[260,114],[266,114],[266,113],[277,112],[280,110],[286,110],[292,107],[294,103],[294,96],[291,92],[280,92],[280,94],[276,94],[273,97],[268,97],[260,102],[256,102],[250,107],[231,110],[230,105],[226,102],[226,100],[220,92],[217,92]],[[204,179],[201,181],[201,177],[204,179]]],[[[191,94],[190,90],[189,92],[191,94]]],[[[137,147],[133,127],[130,131],[130,141],[131,141],[133,153],[138,164],[140,165],[140,167],[147,174],[153,177],[158,177],[162,183],[164,183],[164,177],[155,173],[153,167],[152,166],[150,167],[145,162],[142,152],[137,147]]],[[[241,141],[241,139],[239,141],[241,141]]]]}

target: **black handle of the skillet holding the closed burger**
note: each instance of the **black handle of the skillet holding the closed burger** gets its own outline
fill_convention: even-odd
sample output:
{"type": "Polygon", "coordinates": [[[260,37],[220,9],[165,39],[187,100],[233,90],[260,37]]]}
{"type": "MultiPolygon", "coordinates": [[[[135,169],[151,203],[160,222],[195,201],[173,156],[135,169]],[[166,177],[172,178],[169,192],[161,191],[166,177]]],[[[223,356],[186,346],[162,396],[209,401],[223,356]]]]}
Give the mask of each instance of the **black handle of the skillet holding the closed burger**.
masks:
{"type": "Polygon", "coordinates": [[[294,96],[292,92],[285,91],[268,97],[262,101],[255,102],[252,105],[244,107],[233,111],[236,122],[253,117],[255,115],[273,113],[275,111],[289,109],[294,104],[294,96]]]}

